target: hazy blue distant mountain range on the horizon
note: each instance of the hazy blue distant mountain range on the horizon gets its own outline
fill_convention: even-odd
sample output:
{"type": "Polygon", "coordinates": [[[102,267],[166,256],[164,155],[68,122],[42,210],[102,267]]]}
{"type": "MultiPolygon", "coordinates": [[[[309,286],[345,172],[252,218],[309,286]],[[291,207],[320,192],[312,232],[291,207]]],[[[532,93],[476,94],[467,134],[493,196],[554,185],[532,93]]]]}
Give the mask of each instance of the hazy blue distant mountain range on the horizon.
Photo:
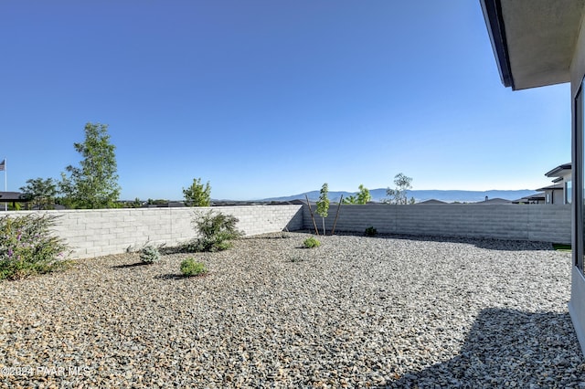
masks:
{"type": "MultiPolygon", "coordinates": [[[[369,191],[372,195],[372,201],[381,202],[385,198],[386,189],[372,189],[369,191]]],[[[408,197],[414,197],[417,203],[426,200],[441,200],[447,203],[460,202],[460,203],[476,203],[478,201],[484,201],[487,196],[488,199],[503,198],[505,200],[517,200],[529,195],[535,195],[537,192],[522,189],[516,191],[440,191],[440,190],[421,190],[421,191],[408,191],[408,197]]],[[[319,199],[319,191],[305,192],[299,195],[289,195],[282,197],[271,197],[262,199],[262,201],[292,201],[292,200],[305,200],[305,195],[309,197],[310,201],[316,201],[319,199]]],[[[329,192],[329,200],[338,202],[341,195],[344,198],[350,195],[356,195],[356,192],[329,192]]]]}

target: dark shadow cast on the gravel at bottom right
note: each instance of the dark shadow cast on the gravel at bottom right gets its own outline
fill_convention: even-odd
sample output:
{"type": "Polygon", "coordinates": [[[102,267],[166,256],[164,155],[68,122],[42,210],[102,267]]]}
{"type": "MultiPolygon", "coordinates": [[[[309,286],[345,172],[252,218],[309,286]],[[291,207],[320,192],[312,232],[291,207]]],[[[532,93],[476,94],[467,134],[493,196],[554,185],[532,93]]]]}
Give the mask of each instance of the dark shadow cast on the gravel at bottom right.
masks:
{"type": "Polygon", "coordinates": [[[581,387],[583,362],[569,313],[487,309],[458,356],[387,387],[581,387]]]}

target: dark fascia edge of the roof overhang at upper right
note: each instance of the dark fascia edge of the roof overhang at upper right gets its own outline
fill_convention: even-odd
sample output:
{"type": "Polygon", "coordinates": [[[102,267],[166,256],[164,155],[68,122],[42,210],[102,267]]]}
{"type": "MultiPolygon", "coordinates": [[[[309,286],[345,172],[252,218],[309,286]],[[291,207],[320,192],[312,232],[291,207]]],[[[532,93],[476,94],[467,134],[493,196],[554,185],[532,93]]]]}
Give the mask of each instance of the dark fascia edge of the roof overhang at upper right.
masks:
{"type": "Polygon", "coordinates": [[[484,11],[485,26],[492,42],[495,62],[500,73],[500,79],[505,87],[516,90],[510,66],[510,56],[505,38],[504,17],[502,16],[501,0],[480,0],[484,11]]]}

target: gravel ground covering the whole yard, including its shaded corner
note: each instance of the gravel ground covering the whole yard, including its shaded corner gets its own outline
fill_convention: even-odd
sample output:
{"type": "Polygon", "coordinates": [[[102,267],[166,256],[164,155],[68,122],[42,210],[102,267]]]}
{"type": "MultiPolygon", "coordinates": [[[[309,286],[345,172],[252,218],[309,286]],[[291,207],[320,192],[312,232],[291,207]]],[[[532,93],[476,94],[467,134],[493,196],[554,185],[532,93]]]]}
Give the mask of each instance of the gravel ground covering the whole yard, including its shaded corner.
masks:
{"type": "Polygon", "coordinates": [[[585,387],[570,254],[306,237],[190,255],[205,277],[134,253],[2,282],[0,387],[585,387]]]}

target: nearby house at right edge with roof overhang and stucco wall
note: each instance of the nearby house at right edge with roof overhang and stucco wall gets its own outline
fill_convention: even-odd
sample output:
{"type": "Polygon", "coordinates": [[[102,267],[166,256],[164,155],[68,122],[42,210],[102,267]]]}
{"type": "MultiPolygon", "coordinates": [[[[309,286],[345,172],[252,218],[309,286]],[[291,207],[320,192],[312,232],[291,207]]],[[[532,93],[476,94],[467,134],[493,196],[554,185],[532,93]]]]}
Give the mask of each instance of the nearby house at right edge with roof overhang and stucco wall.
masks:
{"type": "Polygon", "coordinates": [[[574,201],[569,313],[585,352],[585,1],[480,0],[480,3],[505,87],[518,90],[570,82],[570,186],[574,201]]]}

